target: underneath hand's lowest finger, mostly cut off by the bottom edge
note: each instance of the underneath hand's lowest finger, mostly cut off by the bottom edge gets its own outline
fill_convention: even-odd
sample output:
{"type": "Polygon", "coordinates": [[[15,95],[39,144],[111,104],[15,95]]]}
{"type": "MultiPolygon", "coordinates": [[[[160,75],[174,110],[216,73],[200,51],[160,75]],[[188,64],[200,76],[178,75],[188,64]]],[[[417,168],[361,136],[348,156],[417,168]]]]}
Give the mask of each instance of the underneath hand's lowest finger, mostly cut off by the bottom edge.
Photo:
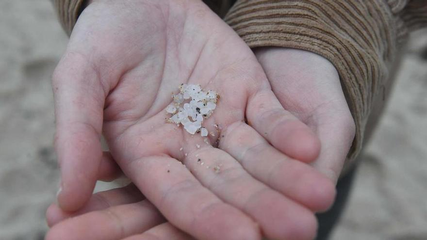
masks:
{"type": "Polygon", "coordinates": [[[172,224],[164,223],[157,225],[148,231],[134,235],[124,240],[195,240],[193,237],[182,232],[172,224]]]}

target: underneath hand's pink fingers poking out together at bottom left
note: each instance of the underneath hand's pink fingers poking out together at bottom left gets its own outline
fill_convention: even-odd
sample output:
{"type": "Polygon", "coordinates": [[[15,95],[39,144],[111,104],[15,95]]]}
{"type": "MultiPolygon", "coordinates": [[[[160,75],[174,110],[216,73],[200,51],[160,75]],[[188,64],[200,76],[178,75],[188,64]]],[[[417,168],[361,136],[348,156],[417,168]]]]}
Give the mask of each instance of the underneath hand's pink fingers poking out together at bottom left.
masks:
{"type": "Polygon", "coordinates": [[[73,213],[52,204],[47,211],[47,221],[49,226],[57,224],[55,228],[61,229],[56,232],[57,239],[69,239],[70,233],[73,239],[90,240],[193,239],[167,223],[133,184],[97,192],[83,208],[73,213]]]}

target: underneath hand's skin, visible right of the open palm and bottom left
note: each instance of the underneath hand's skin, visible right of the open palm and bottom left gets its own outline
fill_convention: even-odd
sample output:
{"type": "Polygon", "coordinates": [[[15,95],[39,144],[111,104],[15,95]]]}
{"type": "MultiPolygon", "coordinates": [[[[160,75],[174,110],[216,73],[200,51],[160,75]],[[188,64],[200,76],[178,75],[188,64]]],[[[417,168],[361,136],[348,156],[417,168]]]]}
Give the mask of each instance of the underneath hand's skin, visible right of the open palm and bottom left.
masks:
{"type": "MultiPolygon", "coordinates": [[[[275,86],[273,87],[273,91],[280,99],[280,102],[317,132],[319,138],[322,139],[322,146],[337,144],[338,147],[335,148],[322,148],[319,158],[313,163],[313,166],[328,175],[331,181],[336,181],[336,176],[338,176],[341,170],[340,167],[345,159],[345,151],[348,151],[354,134],[354,124],[345,103],[336,70],[328,60],[303,50],[258,48],[255,50],[255,53],[260,63],[263,64],[271,84],[275,86]],[[265,61],[266,59],[270,59],[270,57],[272,61],[265,61]],[[293,67],[279,67],[279,64],[276,63],[281,63],[286,66],[292,64],[293,67]],[[314,70],[309,67],[312,65],[316,66],[314,70]],[[279,69],[279,71],[277,71],[277,69],[279,69]],[[292,69],[292,71],[288,69],[292,69]],[[307,69],[312,70],[307,72],[307,69]],[[297,78],[297,76],[301,76],[302,74],[304,74],[304,78],[297,78]],[[297,81],[290,81],[287,82],[287,84],[282,84],[282,82],[286,80],[297,81]],[[292,88],[281,88],[283,85],[292,86],[292,88]],[[292,98],[286,98],[287,95],[284,94],[284,89],[299,89],[298,86],[311,89],[311,97],[305,97],[302,94],[296,95],[293,94],[296,92],[288,90],[286,94],[291,95],[292,98]],[[318,86],[325,87],[319,88],[318,86]],[[298,96],[301,96],[301,98],[298,99],[298,96]],[[313,96],[317,96],[317,98],[313,96]],[[298,101],[295,101],[295,105],[285,105],[287,102],[286,100],[289,99],[297,99],[298,101]],[[314,100],[319,102],[319,104],[315,104],[314,100]],[[314,109],[309,107],[315,105],[317,105],[317,107],[314,109]],[[301,111],[301,109],[304,111],[301,111]],[[306,114],[304,114],[304,112],[306,112],[306,114]],[[312,116],[308,113],[312,113],[312,116]],[[322,119],[323,117],[325,118],[325,120],[323,120],[325,122],[328,119],[334,120],[337,124],[344,126],[342,128],[332,129],[329,127],[329,124],[321,124],[322,121],[310,121],[310,119],[322,119]],[[348,126],[345,127],[345,125],[348,126]],[[323,134],[323,132],[328,131],[329,134],[323,134]],[[333,134],[330,134],[330,132],[333,134]],[[341,146],[340,144],[344,145],[341,146]],[[331,157],[331,160],[328,160],[328,156],[331,157]]],[[[107,157],[104,158],[102,162],[102,165],[104,165],[102,171],[100,171],[102,176],[110,179],[115,178],[115,176],[117,176],[117,168],[114,167],[114,160],[107,157]]],[[[71,231],[69,230],[70,228],[77,229],[78,231],[74,231],[78,234],[76,235],[77,239],[85,239],[88,237],[88,233],[82,230],[82,223],[85,222],[98,222],[99,225],[102,226],[100,230],[90,229],[90,233],[94,236],[94,239],[106,239],[105,236],[114,236],[110,239],[121,239],[131,236],[129,239],[134,240],[193,239],[182,231],[180,232],[172,224],[166,223],[166,220],[162,218],[156,208],[153,205],[148,205],[147,200],[144,199],[141,192],[133,185],[96,193],[91,197],[84,208],[73,213],[65,212],[57,205],[52,204],[47,211],[47,219],[49,226],[55,225],[54,229],[63,233],[71,231]],[[146,218],[129,218],[126,212],[118,210],[119,208],[130,208],[131,204],[134,203],[137,203],[137,211],[141,213],[144,212],[143,215],[145,215],[146,218]],[[146,206],[149,207],[147,208],[146,206]],[[117,211],[117,219],[121,219],[121,221],[111,221],[109,218],[106,218],[105,212],[108,211],[117,211]],[[157,214],[153,214],[153,212],[157,212],[157,214]],[[112,223],[114,227],[111,227],[112,223]],[[116,229],[123,229],[126,226],[129,227],[136,223],[138,223],[139,226],[134,227],[132,229],[133,232],[128,231],[120,233],[122,235],[117,237],[119,234],[116,229]],[[106,231],[105,229],[108,230],[106,231]]]]}

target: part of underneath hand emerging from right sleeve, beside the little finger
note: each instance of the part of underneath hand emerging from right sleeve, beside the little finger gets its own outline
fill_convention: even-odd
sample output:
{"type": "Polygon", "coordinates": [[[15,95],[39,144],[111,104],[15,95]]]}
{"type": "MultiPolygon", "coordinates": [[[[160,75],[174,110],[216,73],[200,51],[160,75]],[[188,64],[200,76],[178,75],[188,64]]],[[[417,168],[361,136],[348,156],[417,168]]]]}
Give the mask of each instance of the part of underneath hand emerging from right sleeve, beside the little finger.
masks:
{"type": "Polygon", "coordinates": [[[335,67],[305,50],[267,47],[256,48],[254,53],[283,108],[320,139],[320,155],[312,165],[336,184],[355,124],[335,67]]]}

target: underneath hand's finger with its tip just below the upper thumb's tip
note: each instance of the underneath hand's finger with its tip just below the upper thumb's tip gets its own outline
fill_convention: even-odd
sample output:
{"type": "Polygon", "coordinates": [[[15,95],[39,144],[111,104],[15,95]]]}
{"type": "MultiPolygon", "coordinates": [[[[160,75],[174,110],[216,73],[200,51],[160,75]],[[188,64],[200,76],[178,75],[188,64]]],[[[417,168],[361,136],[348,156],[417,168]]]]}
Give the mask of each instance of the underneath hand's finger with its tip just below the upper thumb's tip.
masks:
{"type": "Polygon", "coordinates": [[[135,185],[130,184],[123,188],[116,188],[93,194],[90,200],[76,212],[66,212],[56,204],[52,204],[46,211],[46,220],[49,227],[51,227],[70,217],[79,216],[91,211],[106,209],[112,206],[135,203],[142,201],[143,199],[144,195],[142,195],[138,188],[136,188],[135,185]]]}

